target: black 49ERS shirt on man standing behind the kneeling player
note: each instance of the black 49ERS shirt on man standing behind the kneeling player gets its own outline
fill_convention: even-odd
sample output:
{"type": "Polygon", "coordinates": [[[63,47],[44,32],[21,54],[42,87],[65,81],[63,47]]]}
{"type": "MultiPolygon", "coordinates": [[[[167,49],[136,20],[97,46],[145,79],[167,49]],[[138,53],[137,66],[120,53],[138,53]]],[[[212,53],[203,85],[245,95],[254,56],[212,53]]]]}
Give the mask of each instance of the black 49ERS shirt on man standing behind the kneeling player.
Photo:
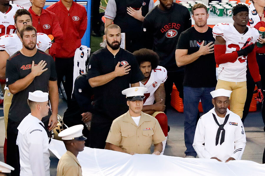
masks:
{"type": "Polygon", "coordinates": [[[143,21],[142,35],[146,48],[153,49],[160,57],[160,65],[168,72],[182,70],[175,60],[180,33],[191,27],[191,15],[185,6],[173,3],[170,11],[155,6],[143,21]]]}

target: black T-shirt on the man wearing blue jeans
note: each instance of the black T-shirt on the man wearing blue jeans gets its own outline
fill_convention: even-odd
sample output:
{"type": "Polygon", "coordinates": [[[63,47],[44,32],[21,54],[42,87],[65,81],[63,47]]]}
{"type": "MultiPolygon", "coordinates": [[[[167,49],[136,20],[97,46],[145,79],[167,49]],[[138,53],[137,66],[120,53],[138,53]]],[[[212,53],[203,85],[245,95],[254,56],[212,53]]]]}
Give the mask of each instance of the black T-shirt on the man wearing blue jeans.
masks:
{"type": "MultiPolygon", "coordinates": [[[[181,33],[177,49],[187,49],[188,54],[199,50],[202,41],[204,45],[215,42],[212,34],[213,29],[208,27],[208,31],[200,33],[194,27],[181,33]]],[[[215,87],[216,80],[216,62],[214,53],[202,55],[194,62],[185,65],[185,75],[183,86],[188,87],[215,87]]]]}

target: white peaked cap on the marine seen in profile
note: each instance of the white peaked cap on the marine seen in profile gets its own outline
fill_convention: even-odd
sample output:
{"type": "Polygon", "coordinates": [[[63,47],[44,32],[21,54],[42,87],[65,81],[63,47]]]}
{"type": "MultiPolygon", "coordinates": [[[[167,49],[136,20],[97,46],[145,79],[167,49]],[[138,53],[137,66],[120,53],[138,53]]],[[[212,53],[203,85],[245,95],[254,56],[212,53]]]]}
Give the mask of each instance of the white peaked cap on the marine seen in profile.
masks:
{"type": "Polygon", "coordinates": [[[84,125],[75,125],[65,130],[61,131],[58,136],[62,138],[62,140],[77,140],[77,141],[85,141],[86,137],[83,136],[82,130],[84,129],[84,125]]]}

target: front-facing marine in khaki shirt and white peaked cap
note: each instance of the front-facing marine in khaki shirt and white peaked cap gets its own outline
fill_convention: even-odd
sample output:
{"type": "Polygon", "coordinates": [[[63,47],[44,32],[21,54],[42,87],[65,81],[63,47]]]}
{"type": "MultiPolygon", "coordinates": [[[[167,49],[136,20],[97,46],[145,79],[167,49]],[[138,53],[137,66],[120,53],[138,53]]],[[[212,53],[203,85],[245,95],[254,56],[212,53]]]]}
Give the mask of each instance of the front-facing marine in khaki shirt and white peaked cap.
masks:
{"type": "Polygon", "coordinates": [[[112,122],[106,140],[106,149],[119,152],[150,154],[154,143],[153,154],[160,155],[165,135],[158,121],[142,112],[146,87],[131,87],[122,91],[127,97],[129,111],[112,122]]]}

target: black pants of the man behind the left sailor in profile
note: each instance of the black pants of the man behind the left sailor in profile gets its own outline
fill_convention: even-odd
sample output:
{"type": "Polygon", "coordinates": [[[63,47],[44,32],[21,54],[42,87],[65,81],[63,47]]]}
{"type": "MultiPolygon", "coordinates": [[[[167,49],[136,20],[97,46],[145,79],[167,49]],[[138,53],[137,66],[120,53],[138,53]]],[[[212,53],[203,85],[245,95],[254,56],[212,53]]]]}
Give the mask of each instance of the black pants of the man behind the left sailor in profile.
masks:
{"type": "MultiPolygon", "coordinates": [[[[48,128],[49,119],[45,118],[44,123],[45,128],[48,128]]],[[[16,138],[18,135],[19,122],[12,121],[8,119],[7,121],[7,153],[6,153],[6,163],[14,167],[15,170],[11,171],[11,176],[19,176],[20,164],[19,164],[19,148],[16,145],[16,138]]]]}

